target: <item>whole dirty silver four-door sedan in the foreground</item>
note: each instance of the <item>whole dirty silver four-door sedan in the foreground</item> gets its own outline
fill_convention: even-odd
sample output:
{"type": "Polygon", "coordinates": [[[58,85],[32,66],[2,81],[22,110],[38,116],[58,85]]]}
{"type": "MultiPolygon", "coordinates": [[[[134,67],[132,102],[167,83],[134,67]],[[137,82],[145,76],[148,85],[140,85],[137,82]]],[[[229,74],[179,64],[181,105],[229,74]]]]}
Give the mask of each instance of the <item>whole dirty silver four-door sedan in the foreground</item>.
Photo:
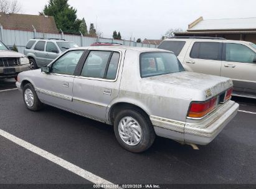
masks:
{"type": "Polygon", "coordinates": [[[184,71],[174,53],[156,48],[72,48],[19,74],[16,86],[32,111],[49,104],[113,125],[131,152],[148,149],[155,134],[206,145],[239,108],[229,78],[184,71]]]}

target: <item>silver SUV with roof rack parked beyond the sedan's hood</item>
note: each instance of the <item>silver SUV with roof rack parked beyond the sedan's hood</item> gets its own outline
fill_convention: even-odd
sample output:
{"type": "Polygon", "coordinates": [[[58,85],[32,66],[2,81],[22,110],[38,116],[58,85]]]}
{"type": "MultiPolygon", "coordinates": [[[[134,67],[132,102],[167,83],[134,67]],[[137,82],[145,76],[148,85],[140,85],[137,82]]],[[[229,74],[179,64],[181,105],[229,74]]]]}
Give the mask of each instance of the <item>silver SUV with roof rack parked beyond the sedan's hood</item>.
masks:
{"type": "Polygon", "coordinates": [[[44,67],[69,48],[78,47],[65,39],[31,39],[27,42],[24,54],[29,58],[33,69],[44,67]]]}

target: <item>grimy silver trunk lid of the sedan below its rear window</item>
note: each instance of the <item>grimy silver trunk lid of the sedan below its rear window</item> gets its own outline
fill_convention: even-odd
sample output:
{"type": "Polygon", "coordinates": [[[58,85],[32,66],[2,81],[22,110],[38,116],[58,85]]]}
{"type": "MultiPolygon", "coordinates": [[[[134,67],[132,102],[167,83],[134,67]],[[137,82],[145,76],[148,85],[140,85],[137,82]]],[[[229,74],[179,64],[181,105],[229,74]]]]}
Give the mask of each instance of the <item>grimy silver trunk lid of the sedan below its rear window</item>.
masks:
{"type": "Polygon", "coordinates": [[[173,95],[194,101],[205,101],[233,86],[232,80],[229,78],[189,71],[152,76],[145,79],[149,82],[158,83],[158,86],[161,83],[163,93],[169,92],[166,90],[169,88],[168,86],[175,85],[177,90],[172,91],[173,95]],[[186,93],[181,93],[181,88],[186,93]]]}

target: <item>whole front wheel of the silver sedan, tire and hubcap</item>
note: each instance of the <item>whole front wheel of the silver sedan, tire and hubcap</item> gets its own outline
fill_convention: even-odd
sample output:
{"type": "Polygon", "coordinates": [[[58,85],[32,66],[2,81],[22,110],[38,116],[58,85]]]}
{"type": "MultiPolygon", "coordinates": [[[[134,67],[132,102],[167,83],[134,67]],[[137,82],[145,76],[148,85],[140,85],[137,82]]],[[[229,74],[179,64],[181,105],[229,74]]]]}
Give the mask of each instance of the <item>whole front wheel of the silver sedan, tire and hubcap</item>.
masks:
{"type": "Polygon", "coordinates": [[[40,102],[37,93],[31,83],[27,83],[23,87],[23,100],[27,109],[32,111],[39,111],[44,105],[40,102]]]}

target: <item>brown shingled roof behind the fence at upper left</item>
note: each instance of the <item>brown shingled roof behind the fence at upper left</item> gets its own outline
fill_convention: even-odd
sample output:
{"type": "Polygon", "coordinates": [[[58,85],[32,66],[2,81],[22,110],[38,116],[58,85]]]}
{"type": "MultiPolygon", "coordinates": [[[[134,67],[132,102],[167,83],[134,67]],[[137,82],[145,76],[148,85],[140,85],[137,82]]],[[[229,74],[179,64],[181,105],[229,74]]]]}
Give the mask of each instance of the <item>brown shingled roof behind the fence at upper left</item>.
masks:
{"type": "Polygon", "coordinates": [[[0,12],[0,24],[4,29],[59,33],[52,16],[39,16],[29,14],[5,14],[0,12]]]}

